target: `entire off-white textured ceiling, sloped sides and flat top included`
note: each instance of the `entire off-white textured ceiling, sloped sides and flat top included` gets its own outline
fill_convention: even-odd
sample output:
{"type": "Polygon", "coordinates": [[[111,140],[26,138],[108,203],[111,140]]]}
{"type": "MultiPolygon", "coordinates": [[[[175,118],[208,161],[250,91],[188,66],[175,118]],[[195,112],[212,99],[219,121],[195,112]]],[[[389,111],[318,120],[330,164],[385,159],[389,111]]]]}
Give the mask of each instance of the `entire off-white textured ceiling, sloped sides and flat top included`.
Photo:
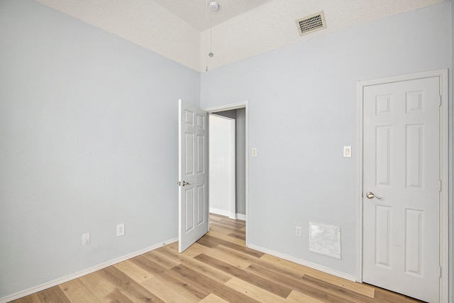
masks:
{"type": "Polygon", "coordinates": [[[34,1],[200,72],[453,0],[217,0],[218,11],[209,0],[34,1]],[[319,11],[327,28],[299,35],[295,20],[319,11]]]}

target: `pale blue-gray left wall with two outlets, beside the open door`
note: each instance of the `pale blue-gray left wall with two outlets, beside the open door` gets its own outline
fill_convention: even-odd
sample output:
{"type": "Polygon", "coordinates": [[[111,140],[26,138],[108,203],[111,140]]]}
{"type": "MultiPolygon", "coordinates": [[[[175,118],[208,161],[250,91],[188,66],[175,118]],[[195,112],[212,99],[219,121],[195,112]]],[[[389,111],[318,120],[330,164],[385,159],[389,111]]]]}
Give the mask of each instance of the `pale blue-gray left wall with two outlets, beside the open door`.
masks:
{"type": "Polygon", "coordinates": [[[0,298],[178,236],[177,100],[199,88],[99,28],[0,1],[0,298]]]}

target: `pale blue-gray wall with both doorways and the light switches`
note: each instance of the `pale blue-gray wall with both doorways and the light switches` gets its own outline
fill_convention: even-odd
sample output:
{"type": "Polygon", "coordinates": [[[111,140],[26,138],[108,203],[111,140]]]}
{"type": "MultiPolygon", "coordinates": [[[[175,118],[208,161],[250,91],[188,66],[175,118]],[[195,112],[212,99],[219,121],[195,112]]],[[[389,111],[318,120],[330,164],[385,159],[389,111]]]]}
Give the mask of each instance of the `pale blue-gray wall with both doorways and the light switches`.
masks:
{"type": "Polygon", "coordinates": [[[451,12],[449,1],[201,75],[202,108],[249,100],[250,244],[355,276],[357,82],[451,68],[451,12]],[[341,226],[341,260],[309,252],[309,221],[341,226]]]}

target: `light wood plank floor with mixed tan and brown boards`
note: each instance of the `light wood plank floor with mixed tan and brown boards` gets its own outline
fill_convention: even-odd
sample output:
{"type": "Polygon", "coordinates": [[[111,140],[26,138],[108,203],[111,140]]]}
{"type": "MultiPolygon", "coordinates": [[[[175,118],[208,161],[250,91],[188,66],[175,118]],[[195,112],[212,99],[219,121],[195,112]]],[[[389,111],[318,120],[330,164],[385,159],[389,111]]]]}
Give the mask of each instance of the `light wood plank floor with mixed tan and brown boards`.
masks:
{"type": "Polygon", "coordinates": [[[210,220],[182,254],[172,243],[13,302],[419,302],[246,248],[244,221],[210,220]]]}

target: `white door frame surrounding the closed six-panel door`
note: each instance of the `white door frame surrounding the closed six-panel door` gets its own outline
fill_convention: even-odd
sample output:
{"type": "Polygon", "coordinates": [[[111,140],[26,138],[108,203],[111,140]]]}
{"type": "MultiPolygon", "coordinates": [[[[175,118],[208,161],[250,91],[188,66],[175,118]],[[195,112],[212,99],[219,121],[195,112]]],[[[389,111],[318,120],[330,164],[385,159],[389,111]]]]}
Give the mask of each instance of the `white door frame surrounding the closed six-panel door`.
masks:
{"type": "Polygon", "coordinates": [[[357,146],[358,146],[358,180],[357,180],[357,192],[358,200],[356,206],[356,280],[362,282],[362,269],[363,269],[363,258],[362,258],[362,136],[363,136],[363,109],[362,104],[364,101],[364,88],[372,85],[387,84],[392,82],[402,82],[415,79],[424,79],[430,77],[439,77],[440,79],[440,92],[441,92],[441,106],[440,106],[440,174],[441,174],[441,192],[440,192],[440,240],[439,240],[439,252],[440,252],[440,266],[441,266],[441,277],[440,277],[440,302],[448,302],[449,295],[449,213],[448,213],[448,192],[450,191],[449,167],[449,116],[448,116],[448,69],[433,70],[428,72],[418,72],[409,75],[399,75],[395,77],[385,77],[380,79],[371,79],[360,81],[357,83],[357,146]]]}

